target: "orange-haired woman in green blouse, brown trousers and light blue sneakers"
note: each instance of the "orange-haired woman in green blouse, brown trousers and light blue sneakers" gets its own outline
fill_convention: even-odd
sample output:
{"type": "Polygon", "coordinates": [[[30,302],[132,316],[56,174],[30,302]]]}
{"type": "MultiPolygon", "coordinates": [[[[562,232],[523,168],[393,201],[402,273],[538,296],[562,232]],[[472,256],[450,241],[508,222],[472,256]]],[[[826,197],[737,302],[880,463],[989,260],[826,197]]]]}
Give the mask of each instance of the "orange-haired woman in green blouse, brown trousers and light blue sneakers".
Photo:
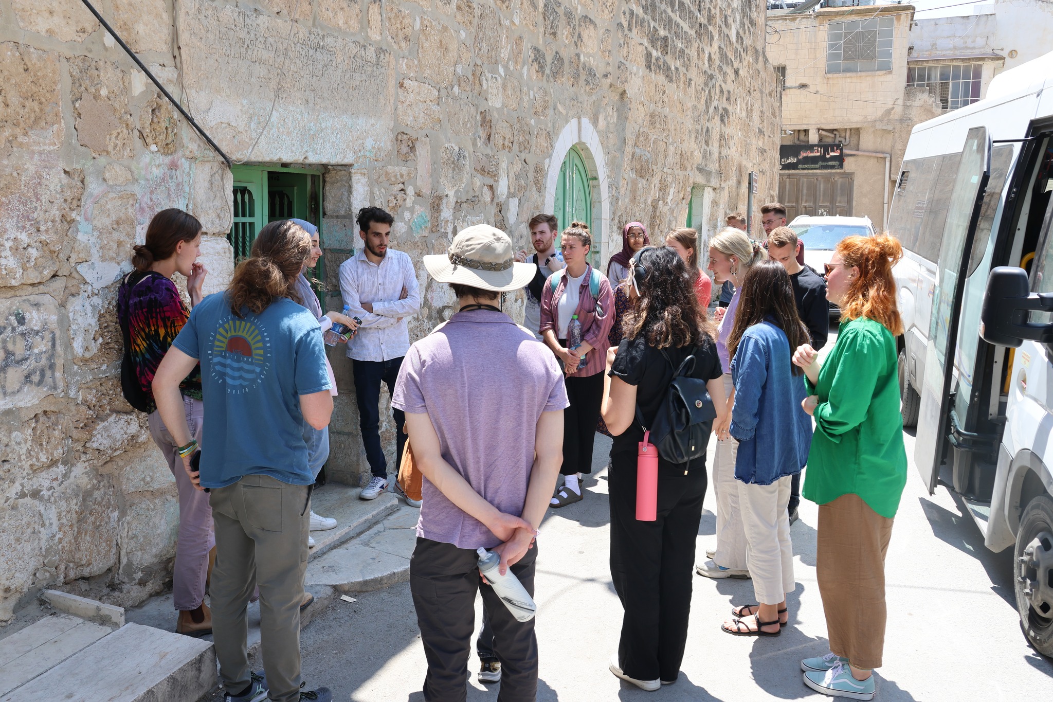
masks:
{"type": "Polygon", "coordinates": [[[885,554],[907,483],[892,278],[901,256],[887,235],[843,239],[827,265],[827,299],[841,308],[837,343],[821,364],[808,344],[794,355],[815,418],[803,494],[819,504],[816,574],[831,651],[801,669],[812,689],[856,700],[874,697],[871,671],[881,665],[885,554]]]}

